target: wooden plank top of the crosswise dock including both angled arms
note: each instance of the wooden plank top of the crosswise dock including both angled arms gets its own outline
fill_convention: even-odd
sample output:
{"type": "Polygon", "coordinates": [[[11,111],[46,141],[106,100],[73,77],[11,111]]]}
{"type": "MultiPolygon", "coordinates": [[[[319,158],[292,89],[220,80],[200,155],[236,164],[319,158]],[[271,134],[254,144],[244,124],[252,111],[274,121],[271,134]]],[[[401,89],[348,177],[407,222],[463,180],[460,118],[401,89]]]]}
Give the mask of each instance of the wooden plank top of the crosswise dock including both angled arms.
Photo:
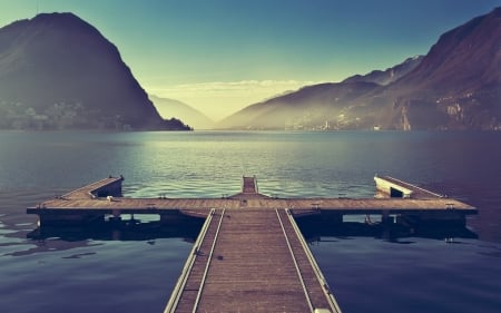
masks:
{"type": "MultiPolygon", "coordinates": [[[[384,177],[385,179],[394,179],[384,177]]],[[[291,208],[293,212],[337,211],[342,214],[375,214],[385,211],[390,214],[406,212],[432,212],[454,209],[462,214],[477,214],[477,208],[453,198],[436,194],[414,185],[394,179],[407,188],[413,188],[413,198],[272,198],[259,194],[255,177],[244,177],[242,193],[223,198],[112,198],[97,197],[96,190],[106,186],[121,184],[122,178],[105,178],[60,197],[46,200],[27,209],[28,214],[101,212],[111,214],[120,211],[128,214],[158,214],[161,211],[196,212],[207,215],[210,208],[291,208]],[[419,189],[416,189],[419,188],[419,189]]]]}

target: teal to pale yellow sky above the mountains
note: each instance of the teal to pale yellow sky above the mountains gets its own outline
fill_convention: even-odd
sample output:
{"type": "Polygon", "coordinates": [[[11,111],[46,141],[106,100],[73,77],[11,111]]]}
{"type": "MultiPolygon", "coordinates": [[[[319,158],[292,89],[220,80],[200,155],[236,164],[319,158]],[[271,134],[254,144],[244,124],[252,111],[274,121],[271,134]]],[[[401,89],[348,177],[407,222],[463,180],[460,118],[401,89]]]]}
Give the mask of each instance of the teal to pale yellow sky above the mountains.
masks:
{"type": "Polygon", "coordinates": [[[150,94],[219,119],[301,86],[426,53],[501,0],[0,0],[0,26],[73,12],[150,94]]]}

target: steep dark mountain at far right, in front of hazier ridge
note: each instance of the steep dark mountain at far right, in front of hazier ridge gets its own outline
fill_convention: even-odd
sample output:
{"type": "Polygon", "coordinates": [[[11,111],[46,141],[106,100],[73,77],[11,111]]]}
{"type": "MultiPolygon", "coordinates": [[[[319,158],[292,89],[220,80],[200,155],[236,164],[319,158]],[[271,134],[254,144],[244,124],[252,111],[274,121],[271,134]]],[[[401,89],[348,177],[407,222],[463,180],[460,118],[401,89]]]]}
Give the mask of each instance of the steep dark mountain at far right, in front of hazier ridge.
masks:
{"type": "MultiPolygon", "coordinates": [[[[393,95],[386,127],[501,129],[501,8],[442,35],[393,95]],[[409,125],[402,125],[406,120],[409,125]]],[[[404,123],[404,124],[407,124],[404,123]]]]}

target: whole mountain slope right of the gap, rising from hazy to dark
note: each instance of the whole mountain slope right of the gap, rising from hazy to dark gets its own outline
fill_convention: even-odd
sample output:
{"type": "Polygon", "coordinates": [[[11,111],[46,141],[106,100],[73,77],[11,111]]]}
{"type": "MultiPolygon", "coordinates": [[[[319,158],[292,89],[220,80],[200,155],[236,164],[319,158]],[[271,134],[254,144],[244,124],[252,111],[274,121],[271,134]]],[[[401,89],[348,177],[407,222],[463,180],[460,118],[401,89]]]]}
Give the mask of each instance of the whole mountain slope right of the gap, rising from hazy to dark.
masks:
{"type": "Polygon", "coordinates": [[[442,35],[424,57],[252,105],[224,129],[501,129],[501,8],[442,35]]]}

